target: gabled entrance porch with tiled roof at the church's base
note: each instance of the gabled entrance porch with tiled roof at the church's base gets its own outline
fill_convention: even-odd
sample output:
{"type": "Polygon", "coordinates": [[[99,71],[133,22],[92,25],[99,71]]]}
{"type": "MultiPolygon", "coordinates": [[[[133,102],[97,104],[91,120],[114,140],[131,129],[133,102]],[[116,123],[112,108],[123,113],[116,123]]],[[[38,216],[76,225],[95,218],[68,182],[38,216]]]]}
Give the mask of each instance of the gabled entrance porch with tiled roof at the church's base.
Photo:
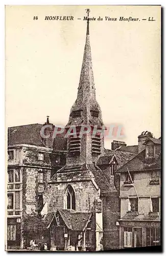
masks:
{"type": "Polygon", "coordinates": [[[51,250],[95,250],[95,230],[92,213],[58,210],[50,223],[51,250]]]}

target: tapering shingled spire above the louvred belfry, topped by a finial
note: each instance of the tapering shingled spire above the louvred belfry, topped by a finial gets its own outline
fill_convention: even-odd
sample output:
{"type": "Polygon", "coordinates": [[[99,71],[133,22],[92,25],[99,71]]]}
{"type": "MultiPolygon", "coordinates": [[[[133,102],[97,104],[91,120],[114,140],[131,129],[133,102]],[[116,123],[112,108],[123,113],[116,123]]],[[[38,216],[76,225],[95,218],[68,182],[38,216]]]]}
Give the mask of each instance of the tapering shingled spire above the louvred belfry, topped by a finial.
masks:
{"type": "Polygon", "coordinates": [[[89,37],[89,12],[87,9],[87,30],[86,30],[86,41],[84,48],[84,55],[82,61],[81,75],[78,87],[77,99],[70,110],[70,117],[67,123],[69,125],[98,125],[103,126],[102,113],[100,106],[96,100],[96,90],[94,87],[92,60],[91,60],[91,49],[90,49],[90,37],[89,37]],[[96,113],[93,116],[91,113],[96,113]],[[81,114],[79,114],[79,112],[81,114]],[[75,114],[77,114],[75,116],[75,114]]]}

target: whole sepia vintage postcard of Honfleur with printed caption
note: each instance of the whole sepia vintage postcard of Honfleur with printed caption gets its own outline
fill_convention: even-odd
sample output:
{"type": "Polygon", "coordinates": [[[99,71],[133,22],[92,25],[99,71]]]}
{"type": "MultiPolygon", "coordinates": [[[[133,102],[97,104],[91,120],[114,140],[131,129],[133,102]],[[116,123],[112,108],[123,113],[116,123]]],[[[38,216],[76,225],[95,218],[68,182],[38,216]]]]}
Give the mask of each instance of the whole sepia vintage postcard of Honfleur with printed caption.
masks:
{"type": "Polygon", "coordinates": [[[161,6],[5,9],[5,250],[161,248],[161,6]]]}

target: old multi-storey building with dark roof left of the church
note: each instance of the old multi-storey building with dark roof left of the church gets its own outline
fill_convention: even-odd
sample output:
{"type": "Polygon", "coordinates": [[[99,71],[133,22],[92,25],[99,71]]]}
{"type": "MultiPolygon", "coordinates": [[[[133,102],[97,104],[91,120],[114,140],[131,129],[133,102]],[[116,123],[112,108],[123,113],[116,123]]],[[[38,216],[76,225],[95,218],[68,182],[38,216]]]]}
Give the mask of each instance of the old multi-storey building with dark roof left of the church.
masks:
{"type": "Polygon", "coordinates": [[[45,182],[65,164],[65,141],[57,139],[54,150],[53,144],[45,146],[40,137],[42,126],[36,123],[8,129],[8,249],[23,248],[23,220],[41,211],[45,182]]]}

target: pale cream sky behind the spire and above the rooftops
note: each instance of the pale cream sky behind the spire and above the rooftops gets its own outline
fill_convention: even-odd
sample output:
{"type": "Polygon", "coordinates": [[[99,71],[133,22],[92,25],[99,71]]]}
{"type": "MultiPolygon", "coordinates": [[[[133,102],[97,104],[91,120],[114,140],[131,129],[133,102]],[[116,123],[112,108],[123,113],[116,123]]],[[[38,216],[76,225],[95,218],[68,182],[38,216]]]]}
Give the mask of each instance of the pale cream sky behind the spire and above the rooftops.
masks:
{"type": "MultiPolygon", "coordinates": [[[[143,131],[160,137],[159,6],[7,6],[6,126],[44,123],[47,115],[56,125],[67,123],[79,85],[86,8],[96,17],[89,24],[90,45],[104,124],[121,124],[125,138],[113,139],[128,145],[137,144],[143,131]],[[119,20],[130,16],[140,21],[119,20]]],[[[113,139],[105,140],[106,148],[113,139]]]]}

